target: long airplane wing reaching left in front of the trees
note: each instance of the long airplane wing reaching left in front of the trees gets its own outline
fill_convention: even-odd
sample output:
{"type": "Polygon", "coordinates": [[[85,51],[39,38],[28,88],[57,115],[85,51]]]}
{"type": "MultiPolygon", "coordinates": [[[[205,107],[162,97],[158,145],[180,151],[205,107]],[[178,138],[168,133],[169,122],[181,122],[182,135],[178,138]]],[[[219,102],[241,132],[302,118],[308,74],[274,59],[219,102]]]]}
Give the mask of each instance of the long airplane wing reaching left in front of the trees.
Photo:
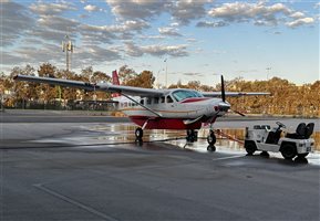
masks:
{"type": "Polygon", "coordinates": [[[111,85],[111,84],[92,84],[80,81],[71,81],[63,78],[52,78],[52,77],[39,77],[39,76],[29,76],[29,75],[16,75],[13,77],[16,81],[25,81],[25,82],[35,82],[35,83],[44,83],[51,85],[60,85],[66,87],[76,87],[86,91],[102,91],[102,92],[111,92],[111,93],[121,93],[125,95],[134,95],[134,96],[162,96],[165,94],[164,90],[153,90],[153,88],[142,88],[134,86],[122,86],[122,85],[111,85]]]}

